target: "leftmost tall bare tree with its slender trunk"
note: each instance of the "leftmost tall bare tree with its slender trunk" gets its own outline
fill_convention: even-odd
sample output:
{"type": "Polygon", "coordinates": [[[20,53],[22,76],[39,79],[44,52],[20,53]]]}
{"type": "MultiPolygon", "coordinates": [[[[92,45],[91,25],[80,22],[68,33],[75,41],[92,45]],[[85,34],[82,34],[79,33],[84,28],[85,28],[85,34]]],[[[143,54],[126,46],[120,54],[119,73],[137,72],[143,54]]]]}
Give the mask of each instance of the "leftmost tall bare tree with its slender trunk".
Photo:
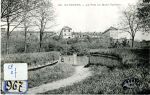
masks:
{"type": "Polygon", "coordinates": [[[13,22],[20,12],[21,3],[19,0],[2,0],[1,1],[1,19],[6,21],[7,32],[6,32],[6,53],[8,54],[9,38],[10,38],[10,23],[13,22]]]}

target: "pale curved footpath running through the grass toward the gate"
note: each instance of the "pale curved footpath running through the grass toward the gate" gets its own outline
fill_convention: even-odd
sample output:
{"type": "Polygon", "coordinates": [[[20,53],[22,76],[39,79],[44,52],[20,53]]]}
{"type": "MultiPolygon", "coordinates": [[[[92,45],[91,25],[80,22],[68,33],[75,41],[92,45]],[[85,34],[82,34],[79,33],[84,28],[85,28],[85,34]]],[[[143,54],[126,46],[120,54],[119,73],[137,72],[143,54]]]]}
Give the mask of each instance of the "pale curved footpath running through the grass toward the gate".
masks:
{"type": "Polygon", "coordinates": [[[50,90],[59,89],[60,87],[73,85],[74,83],[91,76],[91,74],[92,73],[88,68],[76,66],[75,73],[71,77],[31,88],[27,93],[44,93],[50,90]]]}

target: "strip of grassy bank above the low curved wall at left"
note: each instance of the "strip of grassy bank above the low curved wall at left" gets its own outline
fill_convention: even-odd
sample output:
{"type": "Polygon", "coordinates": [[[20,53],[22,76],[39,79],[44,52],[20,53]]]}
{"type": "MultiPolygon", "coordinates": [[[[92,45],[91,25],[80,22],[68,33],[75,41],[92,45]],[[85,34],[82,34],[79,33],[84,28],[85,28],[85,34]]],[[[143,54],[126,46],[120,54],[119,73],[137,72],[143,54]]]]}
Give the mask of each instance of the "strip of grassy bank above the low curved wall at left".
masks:
{"type": "Polygon", "coordinates": [[[28,66],[37,66],[58,59],[59,52],[18,53],[2,56],[1,63],[28,63],[28,66]]]}

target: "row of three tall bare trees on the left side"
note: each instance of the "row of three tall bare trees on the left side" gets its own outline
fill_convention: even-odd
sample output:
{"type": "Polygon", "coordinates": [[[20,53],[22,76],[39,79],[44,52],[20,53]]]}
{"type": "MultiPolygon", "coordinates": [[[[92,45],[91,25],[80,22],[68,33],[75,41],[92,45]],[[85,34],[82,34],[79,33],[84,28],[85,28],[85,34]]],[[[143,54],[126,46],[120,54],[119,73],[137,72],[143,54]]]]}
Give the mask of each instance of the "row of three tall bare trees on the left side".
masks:
{"type": "Polygon", "coordinates": [[[43,41],[43,33],[48,23],[54,20],[54,10],[49,0],[1,0],[1,20],[6,24],[6,54],[9,53],[11,33],[18,27],[24,30],[24,52],[27,51],[27,33],[31,27],[37,27],[40,31],[40,49],[43,41]],[[10,29],[14,24],[13,29],[10,29]]]}

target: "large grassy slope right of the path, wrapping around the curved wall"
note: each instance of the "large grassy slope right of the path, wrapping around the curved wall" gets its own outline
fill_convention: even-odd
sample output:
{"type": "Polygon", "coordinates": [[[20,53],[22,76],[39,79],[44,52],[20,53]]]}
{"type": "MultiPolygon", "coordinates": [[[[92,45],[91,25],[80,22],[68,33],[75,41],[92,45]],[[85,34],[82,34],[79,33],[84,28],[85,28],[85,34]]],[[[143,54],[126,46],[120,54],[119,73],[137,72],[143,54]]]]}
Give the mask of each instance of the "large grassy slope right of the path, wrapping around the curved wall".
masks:
{"type": "Polygon", "coordinates": [[[60,88],[46,92],[48,94],[101,94],[101,93],[147,93],[150,87],[150,71],[149,69],[149,50],[123,50],[113,49],[102,51],[104,53],[116,54],[122,57],[122,67],[110,70],[106,66],[91,66],[91,71],[94,71],[93,76],[73,86],[60,88]],[[143,55],[143,53],[145,53],[143,55]],[[147,61],[143,60],[147,59],[147,61]],[[142,64],[139,66],[139,64],[142,64]],[[146,65],[143,65],[146,64],[146,65]],[[130,67],[131,66],[131,67],[130,67]],[[143,68],[143,69],[142,69],[143,68]],[[141,85],[134,89],[123,90],[122,82],[125,79],[135,77],[140,79],[141,85]]]}

